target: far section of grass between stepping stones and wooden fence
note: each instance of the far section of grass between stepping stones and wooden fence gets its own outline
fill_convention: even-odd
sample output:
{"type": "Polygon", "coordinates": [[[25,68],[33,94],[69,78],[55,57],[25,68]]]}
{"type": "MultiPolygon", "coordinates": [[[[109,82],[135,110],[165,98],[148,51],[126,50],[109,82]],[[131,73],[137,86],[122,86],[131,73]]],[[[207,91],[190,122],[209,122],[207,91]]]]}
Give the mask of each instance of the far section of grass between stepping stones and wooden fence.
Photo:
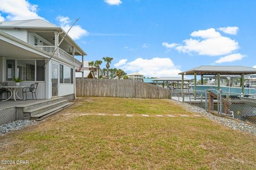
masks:
{"type": "Polygon", "coordinates": [[[164,99],[134,99],[114,97],[79,97],[72,113],[107,114],[192,114],[164,99]]]}

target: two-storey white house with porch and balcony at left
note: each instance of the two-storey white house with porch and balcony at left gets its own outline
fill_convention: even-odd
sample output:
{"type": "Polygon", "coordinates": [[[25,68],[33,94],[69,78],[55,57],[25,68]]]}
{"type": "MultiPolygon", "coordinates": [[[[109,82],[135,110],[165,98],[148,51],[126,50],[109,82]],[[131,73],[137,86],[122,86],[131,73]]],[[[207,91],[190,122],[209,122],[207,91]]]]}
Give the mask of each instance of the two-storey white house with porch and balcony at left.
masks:
{"type": "Polygon", "coordinates": [[[21,86],[39,82],[38,99],[74,98],[75,71],[82,65],[75,56],[83,58],[83,49],[66,36],[44,68],[64,35],[62,28],[41,19],[0,22],[0,82],[13,86],[16,77],[24,80],[21,86]]]}

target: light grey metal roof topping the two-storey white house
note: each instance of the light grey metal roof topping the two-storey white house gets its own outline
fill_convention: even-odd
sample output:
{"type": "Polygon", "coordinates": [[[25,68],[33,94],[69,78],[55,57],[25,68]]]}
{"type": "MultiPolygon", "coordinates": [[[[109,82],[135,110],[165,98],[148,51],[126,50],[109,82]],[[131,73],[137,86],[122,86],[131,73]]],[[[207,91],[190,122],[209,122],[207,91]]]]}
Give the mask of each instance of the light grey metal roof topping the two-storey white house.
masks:
{"type": "Polygon", "coordinates": [[[22,27],[22,28],[60,28],[56,25],[44,21],[42,19],[33,19],[33,20],[19,20],[19,21],[6,21],[0,22],[0,27],[22,27]]]}

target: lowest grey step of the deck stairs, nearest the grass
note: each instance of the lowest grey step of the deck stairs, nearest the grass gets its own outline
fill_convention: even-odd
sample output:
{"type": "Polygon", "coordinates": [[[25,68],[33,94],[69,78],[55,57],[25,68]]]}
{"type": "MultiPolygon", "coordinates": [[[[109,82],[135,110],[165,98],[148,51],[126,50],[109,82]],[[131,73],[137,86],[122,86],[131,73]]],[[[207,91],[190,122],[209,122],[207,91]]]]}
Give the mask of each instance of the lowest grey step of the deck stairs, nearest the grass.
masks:
{"type": "Polygon", "coordinates": [[[47,110],[45,112],[42,112],[42,113],[39,113],[39,114],[36,114],[36,115],[33,115],[33,116],[30,116],[30,120],[38,120],[38,121],[42,121],[44,118],[46,117],[49,117],[51,115],[54,115],[60,111],[62,111],[62,109],[66,108],[66,107],[69,107],[71,105],[73,105],[74,103],[66,103],[66,104],[63,104],[61,106],[58,106],[58,107],[54,107],[50,110],[47,110]]]}

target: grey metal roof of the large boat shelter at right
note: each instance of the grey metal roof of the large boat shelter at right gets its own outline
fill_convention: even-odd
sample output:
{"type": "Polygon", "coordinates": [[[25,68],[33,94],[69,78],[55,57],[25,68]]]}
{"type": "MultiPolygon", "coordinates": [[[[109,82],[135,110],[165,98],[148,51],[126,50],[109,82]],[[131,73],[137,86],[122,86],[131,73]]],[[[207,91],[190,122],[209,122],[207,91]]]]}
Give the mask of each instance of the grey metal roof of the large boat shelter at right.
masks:
{"type": "Polygon", "coordinates": [[[195,67],[193,69],[181,72],[179,74],[193,75],[204,74],[204,75],[214,75],[220,74],[256,74],[256,69],[253,67],[246,66],[212,66],[212,65],[202,65],[195,67]]]}

